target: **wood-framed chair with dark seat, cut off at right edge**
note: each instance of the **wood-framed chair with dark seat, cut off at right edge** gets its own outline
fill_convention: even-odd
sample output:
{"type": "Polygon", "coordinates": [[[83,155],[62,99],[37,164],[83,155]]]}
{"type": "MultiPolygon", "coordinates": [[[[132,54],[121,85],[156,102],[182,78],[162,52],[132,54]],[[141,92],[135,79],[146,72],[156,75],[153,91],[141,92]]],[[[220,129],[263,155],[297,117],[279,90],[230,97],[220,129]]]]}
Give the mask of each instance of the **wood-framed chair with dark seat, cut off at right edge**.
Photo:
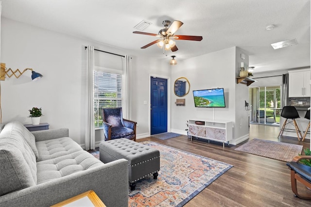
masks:
{"type": "Polygon", "coordinates": [[[297,180],[311,189],[311,166],[299,163],[301,159],[311,159],[311,155],[295,156],[291,162],[286,165],[291,169],[291,184],[294,196],[302,199],[311,199],[311,193],[298,194],[297,180]]]}

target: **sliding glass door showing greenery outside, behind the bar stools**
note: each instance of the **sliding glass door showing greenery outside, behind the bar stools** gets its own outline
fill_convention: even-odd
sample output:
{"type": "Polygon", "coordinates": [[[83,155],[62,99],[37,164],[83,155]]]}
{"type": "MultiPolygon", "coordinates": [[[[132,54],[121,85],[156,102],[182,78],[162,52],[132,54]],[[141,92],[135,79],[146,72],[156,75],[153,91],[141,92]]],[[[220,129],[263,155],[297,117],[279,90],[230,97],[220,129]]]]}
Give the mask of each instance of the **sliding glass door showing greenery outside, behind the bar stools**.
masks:
{"type": "Polygon", "coordinates": [[[249,102],[252,104],[250,123],[279,126],[280,86],[259,86],[249,88],[249,102]]]}

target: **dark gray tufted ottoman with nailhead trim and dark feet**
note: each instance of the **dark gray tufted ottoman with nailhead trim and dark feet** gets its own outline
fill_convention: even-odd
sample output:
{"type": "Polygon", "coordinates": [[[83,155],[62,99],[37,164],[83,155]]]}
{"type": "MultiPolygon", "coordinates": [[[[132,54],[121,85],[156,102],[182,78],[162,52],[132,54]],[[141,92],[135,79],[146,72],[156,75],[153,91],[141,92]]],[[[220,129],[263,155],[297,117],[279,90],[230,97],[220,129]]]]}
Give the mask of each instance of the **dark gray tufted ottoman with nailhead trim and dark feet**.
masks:
{"type": "Polygon", "coordinates": [[[99,144],[99,157],[104,163],[127,159],[129,183],[135,190],[136,181],[153,174],[157,179],[160,170],[160,152],[152,147],[127,138],[113,139],[99,144]]]}

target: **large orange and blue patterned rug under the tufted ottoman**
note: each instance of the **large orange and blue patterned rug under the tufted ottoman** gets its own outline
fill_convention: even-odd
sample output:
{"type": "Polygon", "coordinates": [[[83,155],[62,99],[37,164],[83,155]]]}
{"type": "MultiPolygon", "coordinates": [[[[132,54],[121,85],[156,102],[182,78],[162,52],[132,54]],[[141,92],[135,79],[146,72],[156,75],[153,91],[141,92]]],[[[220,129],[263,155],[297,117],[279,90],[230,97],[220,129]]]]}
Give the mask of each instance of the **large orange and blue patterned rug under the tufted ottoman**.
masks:
{"type": "MultiPolygon", "coordinates": [[[[160,151],[160,171],[129,188],[129,207],[182,207],[232,165],[152,141],[140,142],[160,151]]],[[[99,157],[99,152],[90,152],[99,157]]]]}

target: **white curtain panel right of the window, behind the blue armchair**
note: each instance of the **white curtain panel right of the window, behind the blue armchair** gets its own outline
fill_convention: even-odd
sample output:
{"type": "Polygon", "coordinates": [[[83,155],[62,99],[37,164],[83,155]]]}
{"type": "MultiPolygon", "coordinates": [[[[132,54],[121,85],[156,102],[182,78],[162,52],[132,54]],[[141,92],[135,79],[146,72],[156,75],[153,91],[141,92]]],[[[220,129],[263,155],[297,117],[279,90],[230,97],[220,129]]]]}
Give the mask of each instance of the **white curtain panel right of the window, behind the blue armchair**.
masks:
{"type": "Polygon", "coordinates": [[[124,71],[124,90],[123,90],[123,97],[125,102],[122,103],[122,112],[125,119],[132,119],[131,114],[131,103],[132,103],[132,96],[131,96],[131,74],[132,74],[132,57],[130,55],[125,55],[122,58],[123,62],[123,71],[124,71]],[[125,113],[124,113],[125,112],[125,113]]]}

